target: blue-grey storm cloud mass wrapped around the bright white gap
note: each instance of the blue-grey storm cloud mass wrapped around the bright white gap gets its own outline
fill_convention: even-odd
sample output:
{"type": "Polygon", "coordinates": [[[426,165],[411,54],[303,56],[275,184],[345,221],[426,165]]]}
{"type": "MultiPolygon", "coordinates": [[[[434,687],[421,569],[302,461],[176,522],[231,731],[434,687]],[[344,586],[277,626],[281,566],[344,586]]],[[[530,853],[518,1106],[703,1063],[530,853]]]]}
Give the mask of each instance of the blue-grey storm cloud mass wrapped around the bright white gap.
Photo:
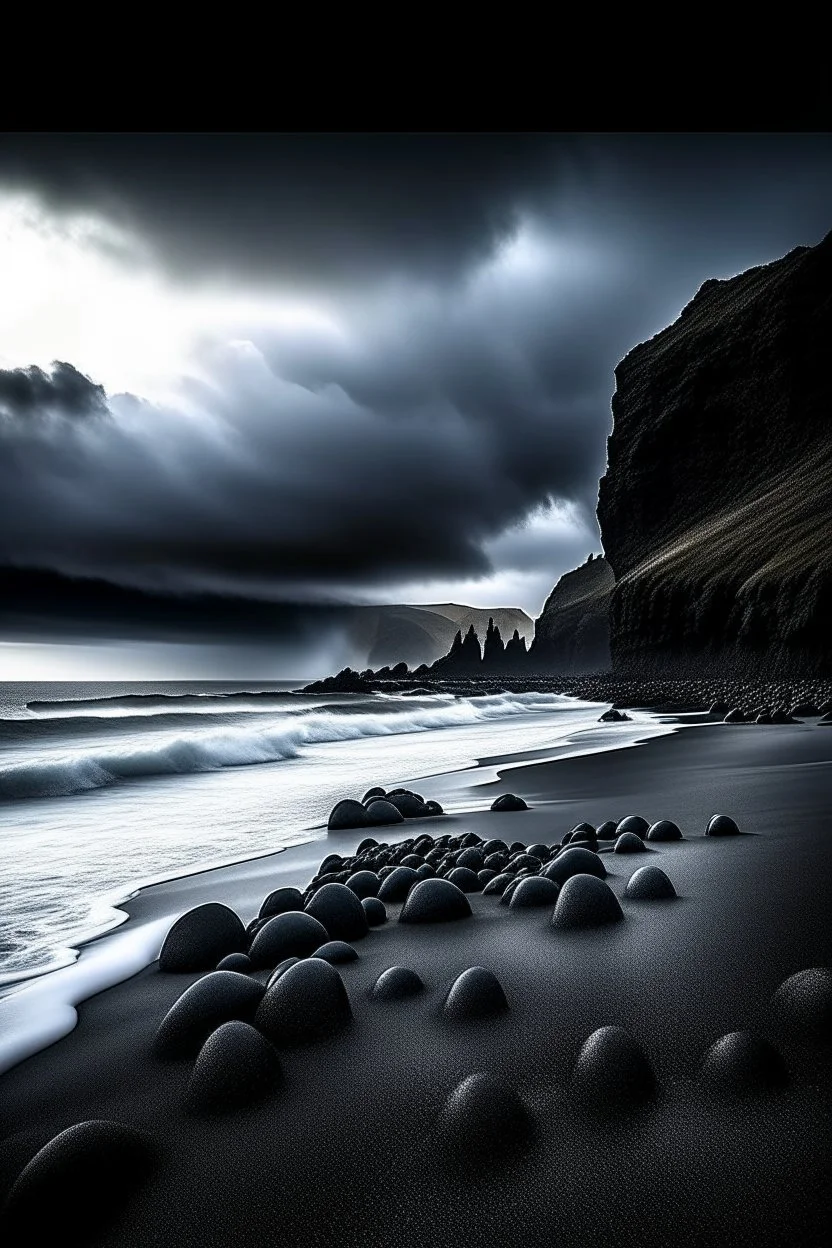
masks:
{"type": "MultiPolygon", "coordinates": [[[[111,419],[24,419],[19,398],[0,419],[0,564],[138,595],[77,588],[107,600],[102,631],[135,609],[147,629],[257,633],[269,600],[495,560],[550,588],[599,549],[617,361],[705,278],[832,225],[822,135],[35,139],[0,139],[0,183],[5,167],[52,205],[117,210],[177,272],[332,290],[331,329],[238,324],[248,346],[206,346],[187,416],[110,396],[111,419]],[[548,503],[575,517],[551,548],[518,528],[548,503]]],[[[105,402],[67,364],[14,386],[41,396],[30,413],[105,402]]]]}

